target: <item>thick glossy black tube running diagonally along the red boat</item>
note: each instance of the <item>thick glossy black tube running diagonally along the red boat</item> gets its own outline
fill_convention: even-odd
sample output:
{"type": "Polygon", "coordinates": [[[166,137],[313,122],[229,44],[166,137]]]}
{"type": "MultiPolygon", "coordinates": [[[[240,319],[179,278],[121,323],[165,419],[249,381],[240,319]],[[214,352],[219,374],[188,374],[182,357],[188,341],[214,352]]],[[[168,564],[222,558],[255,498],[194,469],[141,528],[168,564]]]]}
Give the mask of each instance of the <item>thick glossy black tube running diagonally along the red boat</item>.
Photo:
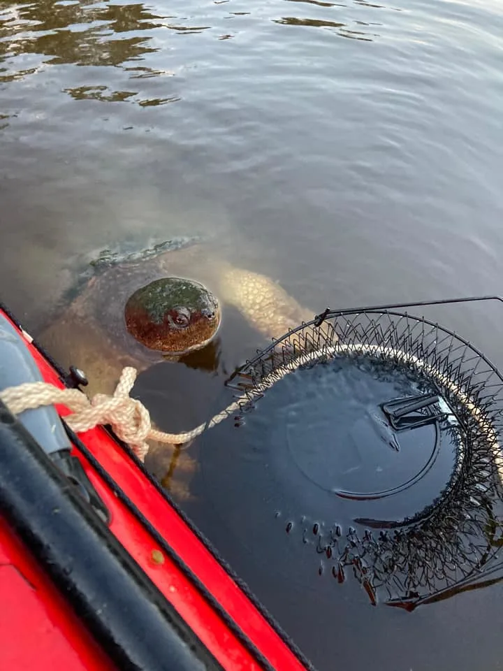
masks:
{"type": "Polygon", "coordinates": [[[0,513],[121,671],[223,669],[1,402],[0,513]]]}

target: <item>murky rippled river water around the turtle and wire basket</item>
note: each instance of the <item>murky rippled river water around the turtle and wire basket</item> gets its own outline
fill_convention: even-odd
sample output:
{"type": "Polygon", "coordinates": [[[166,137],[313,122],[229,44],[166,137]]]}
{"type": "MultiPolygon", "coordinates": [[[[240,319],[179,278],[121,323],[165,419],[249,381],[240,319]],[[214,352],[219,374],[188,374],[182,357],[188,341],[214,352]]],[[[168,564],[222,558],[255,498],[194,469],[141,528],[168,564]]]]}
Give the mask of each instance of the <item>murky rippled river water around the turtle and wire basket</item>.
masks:
{"type": "MultiPolygon", "coordinates": [[[[0,0],[1,298],[36,332],[194,234],[313,311],[501,293],[502,63],[497,0],[0,0]]],[[[436,315],[503,363],[501,312],[436,315]]],[[[321,670],[503,668],[500,586],[404,614],[233,561],[321,670]]]]}

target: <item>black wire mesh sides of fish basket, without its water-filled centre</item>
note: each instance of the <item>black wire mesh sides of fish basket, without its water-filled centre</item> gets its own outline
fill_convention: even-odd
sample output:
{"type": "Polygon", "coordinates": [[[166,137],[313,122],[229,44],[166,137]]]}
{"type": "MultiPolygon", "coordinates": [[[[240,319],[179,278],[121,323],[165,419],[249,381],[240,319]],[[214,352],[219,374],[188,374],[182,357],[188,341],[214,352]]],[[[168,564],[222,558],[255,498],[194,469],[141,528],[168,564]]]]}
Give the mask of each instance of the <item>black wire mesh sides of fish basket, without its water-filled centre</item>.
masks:
{"type": "MultiPolygon", "coordinates": [[[[352,521],[342,524],[337,506],[327,519],[325,508],[323,524],[306,522],[303,541],[328,562],[336,582],[353,574],[374,604],[412,609],[502,579],[503,380],[481,352],[455,333],[393,310],[326,312],[258,353],[228,380],[240,405],[235,424],[263,412],[268,403],[262,399],[290,375],[313,368],[323,373],[342,362],[365,370],[370,366],[374,377],[384,379],[394,370],[412,380],[399,398],[383,399],[387,403],[377,408],[379,422],[386,424],[386,435],[399,441],[429,426],[440,447],[433,450],[428,469],[439,468],[441,449],[442,454],[451,451],[452,468],[428,505],[404,516],[358,517],[362,505],[369,510],[374,495],[358,500],[357,494],[334,489],[334,500],[349,501],[352,521]]],[[[343,419],[333,417],[334,434],[343,419]]],[[[302,421],[309,426],[311,419],[302,421]]],[[[316,426],[312,431],[316,441],[316,426]]],[[[415,482],[410,479],[402,490],[415,482]]],[[[386,496],[393,502],[395,491],[386,496]]],[[[291,526],[286,524],[286,533],[291,526]]]]}

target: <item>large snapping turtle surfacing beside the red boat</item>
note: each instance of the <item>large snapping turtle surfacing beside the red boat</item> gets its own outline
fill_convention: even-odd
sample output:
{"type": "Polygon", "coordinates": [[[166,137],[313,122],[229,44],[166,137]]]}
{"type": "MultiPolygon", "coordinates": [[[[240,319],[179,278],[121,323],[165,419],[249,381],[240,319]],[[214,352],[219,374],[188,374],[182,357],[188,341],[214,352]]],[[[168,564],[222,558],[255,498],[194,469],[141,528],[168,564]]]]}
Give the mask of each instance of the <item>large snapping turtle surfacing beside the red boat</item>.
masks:
{"type": "MultiPolygon", "coordinates": [[[[267,338],[314,314],[269,277],[212,257],[200,242],[166,243],[101,264],[38,340],[62,366],[85,371],[90,395],[111,394],[124,366],[141,372],[212,342],[226,305],[267,338]]],[[[159,451],[164,462],[173,452],[159,451]]]]}

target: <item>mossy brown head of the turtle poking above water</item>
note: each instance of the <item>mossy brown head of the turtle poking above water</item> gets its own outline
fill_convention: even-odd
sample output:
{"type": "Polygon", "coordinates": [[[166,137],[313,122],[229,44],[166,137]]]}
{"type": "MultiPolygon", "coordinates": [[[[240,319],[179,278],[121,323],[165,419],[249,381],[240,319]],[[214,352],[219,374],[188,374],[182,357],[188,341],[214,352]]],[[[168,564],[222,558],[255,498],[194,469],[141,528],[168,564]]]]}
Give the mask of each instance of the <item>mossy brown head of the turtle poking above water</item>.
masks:
{"type": "Polygon", "coordinates": [[[124,308],[126,329],[148,349],[182,356],[205,347],[217,333],[217,298],[203,284],[165,277],[134,292],[124,308]]]}

